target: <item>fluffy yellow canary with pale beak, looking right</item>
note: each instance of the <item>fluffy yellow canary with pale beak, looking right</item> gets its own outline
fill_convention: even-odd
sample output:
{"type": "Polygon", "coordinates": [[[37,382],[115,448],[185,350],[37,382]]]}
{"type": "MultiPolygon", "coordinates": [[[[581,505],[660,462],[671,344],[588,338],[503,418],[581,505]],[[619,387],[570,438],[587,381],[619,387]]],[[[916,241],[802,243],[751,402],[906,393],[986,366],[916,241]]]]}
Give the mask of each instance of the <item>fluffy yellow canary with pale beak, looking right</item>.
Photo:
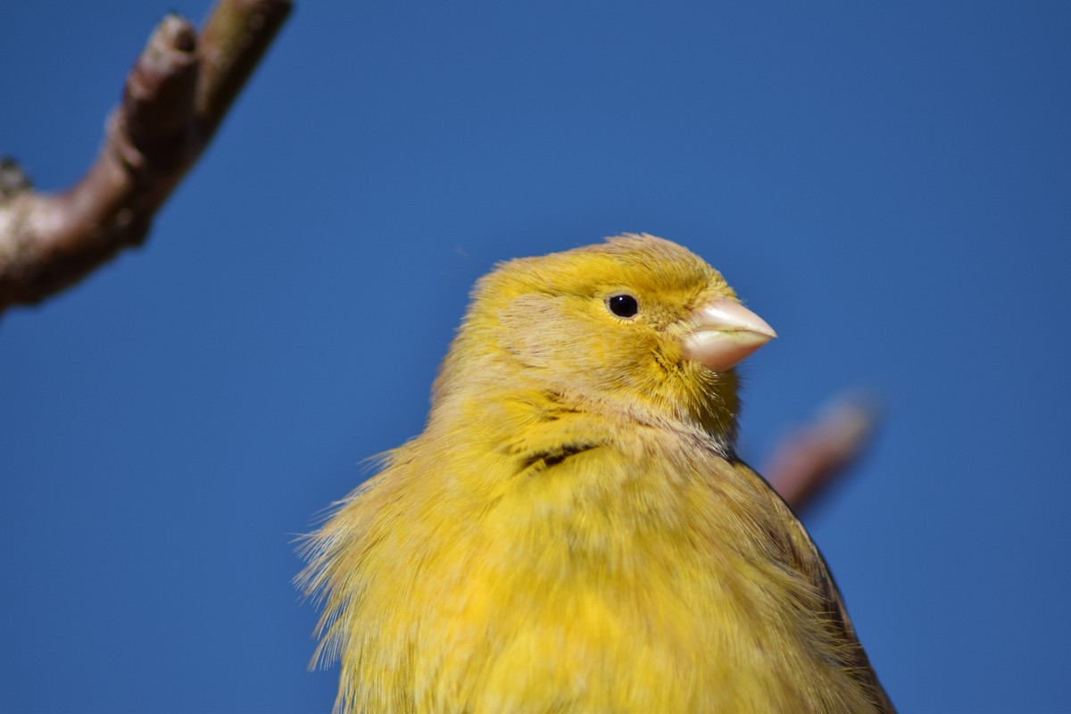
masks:
{"type": "Polygon", "coordinates": [[[306,543],[341,712],[892,712],[734,450],[774,336],[647,234],[500,264],[427,425],[306,543]]]}

